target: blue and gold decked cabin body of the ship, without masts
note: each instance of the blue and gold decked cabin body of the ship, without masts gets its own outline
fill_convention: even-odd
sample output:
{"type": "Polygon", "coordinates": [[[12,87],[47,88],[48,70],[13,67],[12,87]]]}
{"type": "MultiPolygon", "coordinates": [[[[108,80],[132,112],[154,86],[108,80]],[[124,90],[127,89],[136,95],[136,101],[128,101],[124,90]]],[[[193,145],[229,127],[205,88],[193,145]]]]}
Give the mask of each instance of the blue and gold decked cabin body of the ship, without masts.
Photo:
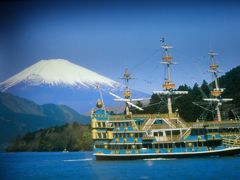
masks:
{"type": "Polygon", "coordinates": [[[239,144],[238,121],[186,123],[176,114],[112,115],[92,111],[94,153],[144,154],[210,151],[239,144]],[[168,118],[167,118],[168,117],[168,118]],[[230,138],[231,139],[231,138],[230,138]]]}

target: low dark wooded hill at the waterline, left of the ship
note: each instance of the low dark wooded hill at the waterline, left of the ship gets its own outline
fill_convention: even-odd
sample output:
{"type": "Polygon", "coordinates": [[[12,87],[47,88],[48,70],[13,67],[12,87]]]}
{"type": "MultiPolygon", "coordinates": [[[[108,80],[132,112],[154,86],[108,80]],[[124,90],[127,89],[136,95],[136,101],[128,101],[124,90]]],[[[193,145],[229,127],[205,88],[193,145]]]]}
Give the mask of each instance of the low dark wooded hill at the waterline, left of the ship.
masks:
{"type": "Polygon", "coordinates": [[[6,150],[19,151],[90,151],[92,150],[89,125],[65,124],[18,136],[6,150]]]}

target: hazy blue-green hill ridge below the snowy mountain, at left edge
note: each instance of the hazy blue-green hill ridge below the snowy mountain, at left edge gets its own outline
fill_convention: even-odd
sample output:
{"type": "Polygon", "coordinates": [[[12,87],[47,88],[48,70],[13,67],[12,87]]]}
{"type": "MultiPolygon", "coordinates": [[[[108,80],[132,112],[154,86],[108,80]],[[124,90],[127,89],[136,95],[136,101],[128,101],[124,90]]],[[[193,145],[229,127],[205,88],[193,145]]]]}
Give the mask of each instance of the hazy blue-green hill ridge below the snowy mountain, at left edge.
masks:
{"type": "Polygon", "coordinates": [[[86,124],[90,118],[65,105],[38,105],[24,98],[0,93],[0,149],[16,135],[75,121],[86,124]]]}

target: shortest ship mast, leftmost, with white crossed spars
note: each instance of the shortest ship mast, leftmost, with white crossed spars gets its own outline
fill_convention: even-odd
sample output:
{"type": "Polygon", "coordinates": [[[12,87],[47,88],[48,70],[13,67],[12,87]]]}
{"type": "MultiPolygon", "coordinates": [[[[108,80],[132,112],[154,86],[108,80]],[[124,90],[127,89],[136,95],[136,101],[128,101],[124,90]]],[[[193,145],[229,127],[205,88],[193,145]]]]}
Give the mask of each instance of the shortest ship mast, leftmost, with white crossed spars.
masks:
{"type": "Polygon", "coordinates": [[[125,89],[124,89],[124,93],[123,93],[124,98],[122,98],[122,97],[120,97],[120,96],[118,96],[118,95],[116,95],[112,92],[110,92],[109,94],[116,98],[116,99],[114,99],[115,101],[122,101],[122,102],[126,103],[126,106],[125,106],[126,115],[131,114],[130,111],[129,111],[130,106],[135,107],[136,109],[143,111],[143,109],[141,107],[132,103],[134,101],[142,101],[144,99],[143,98],[138,98],[138,99],[132,99],[131,98],[132,93],[131,93],[131,90],[129,88],[129,80],[134,79],[134,78],[131,77],[131,74],[129,74],[128,69],[125,69],[125,72],[123,74],[123,77],[121,77],[121,79],[124,79],[124,81],[125,81],[125,89]]]}

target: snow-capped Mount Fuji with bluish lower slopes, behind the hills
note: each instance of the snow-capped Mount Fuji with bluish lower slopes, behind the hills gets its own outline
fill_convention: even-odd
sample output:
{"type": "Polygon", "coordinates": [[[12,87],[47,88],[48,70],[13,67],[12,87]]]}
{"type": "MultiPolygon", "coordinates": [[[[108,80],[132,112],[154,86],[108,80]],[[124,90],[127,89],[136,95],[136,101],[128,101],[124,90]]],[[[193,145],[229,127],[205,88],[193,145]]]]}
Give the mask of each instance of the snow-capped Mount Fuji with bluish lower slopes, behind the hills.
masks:
{"type": "MultiPolygon", "coordinates": [[[[91,111],[99,99],[100,86],[104,102],[114,106],[110,91],[120,93],[123,85],[96,72],[64,59],[40,60],[0,83],[0,91],[8,92],[38,104],[67,105],[80,113],[91,111]]],[[[146,95],[134,91],[134,95],[146,95]]]]}

